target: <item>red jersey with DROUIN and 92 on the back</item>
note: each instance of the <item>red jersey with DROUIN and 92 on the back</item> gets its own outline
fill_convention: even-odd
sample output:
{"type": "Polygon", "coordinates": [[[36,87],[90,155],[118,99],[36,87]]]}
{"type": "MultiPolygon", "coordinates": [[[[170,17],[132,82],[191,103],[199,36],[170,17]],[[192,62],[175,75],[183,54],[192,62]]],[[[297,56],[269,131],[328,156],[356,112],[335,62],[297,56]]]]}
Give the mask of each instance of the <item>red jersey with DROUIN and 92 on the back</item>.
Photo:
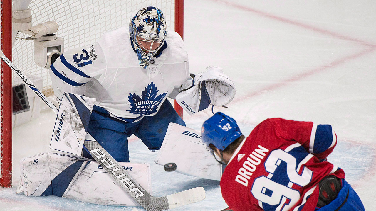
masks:
{"type": "Polygon", "coordinates": [[[267,119],[257,125],[223,172],[221,191],[234,211],[313,211],[318,182],[342,169],[323,161],[337,144],[331,125],[267,119]]]}

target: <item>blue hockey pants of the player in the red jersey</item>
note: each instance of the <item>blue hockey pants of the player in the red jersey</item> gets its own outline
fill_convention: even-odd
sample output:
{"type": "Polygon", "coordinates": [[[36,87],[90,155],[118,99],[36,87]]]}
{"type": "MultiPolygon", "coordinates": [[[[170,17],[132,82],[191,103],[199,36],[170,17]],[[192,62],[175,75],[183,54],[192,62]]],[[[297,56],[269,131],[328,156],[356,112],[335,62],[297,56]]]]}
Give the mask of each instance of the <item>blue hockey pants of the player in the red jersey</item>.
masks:
{"type": "Polygon", "coordinates": [[[337,198],[315,211],[364,211],[364,206],[351,185],[342,179],[342,188],[337,198]]]}

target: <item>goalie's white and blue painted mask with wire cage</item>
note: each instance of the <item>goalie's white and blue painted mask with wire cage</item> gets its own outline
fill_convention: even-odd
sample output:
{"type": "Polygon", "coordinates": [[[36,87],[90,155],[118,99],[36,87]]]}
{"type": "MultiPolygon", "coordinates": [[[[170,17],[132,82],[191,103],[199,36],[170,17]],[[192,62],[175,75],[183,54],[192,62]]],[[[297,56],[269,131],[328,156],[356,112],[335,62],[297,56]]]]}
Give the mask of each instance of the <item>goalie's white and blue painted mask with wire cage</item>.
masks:
{"type": "Polygon", "coordinates": [[[142,68],[147,68],[152,57],[161,49],[166,35],[164,15],[158,8],[143,8],[130,20],[129,36],[142,68]]]}

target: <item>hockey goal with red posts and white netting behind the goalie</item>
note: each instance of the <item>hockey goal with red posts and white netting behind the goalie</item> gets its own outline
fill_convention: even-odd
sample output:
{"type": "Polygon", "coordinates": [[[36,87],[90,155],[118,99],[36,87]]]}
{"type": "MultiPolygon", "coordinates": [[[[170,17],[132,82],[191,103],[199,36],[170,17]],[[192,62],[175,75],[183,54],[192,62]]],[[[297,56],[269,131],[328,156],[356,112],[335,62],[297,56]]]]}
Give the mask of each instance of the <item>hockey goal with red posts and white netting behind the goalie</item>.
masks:
{"type": "MultiPolygon", "coordinates": [[[[43,93],[52,95],[49,69],[34,62],[34,43],[21,32],[11,33],[12,5],[14,10],[31,9],[32,26],[47,21],[59,25],[56,36],[64,38],[64,49],[93,44],[109,30],[129,26],[129,19],[146,6],[164,12],[167,29],[183,38],[183,0],[0,0],[1,48],[9,59],[26,75],[43,78],[43,93]],[[18,37],[18,38],[17,38],[18,37]],[[13,41],[13,44],[12,44],[13,41]]],[[[12,183],[12,78],[18,77],[2,62],[0,98],[0,185],[12,183]]],[[[181,108],[175,109],[182,115],[181,108]],[[178,111],[179,110],[179,111],[178,111]]],[[[27,140],[26,140],[27,141],[27,140]]]]}

